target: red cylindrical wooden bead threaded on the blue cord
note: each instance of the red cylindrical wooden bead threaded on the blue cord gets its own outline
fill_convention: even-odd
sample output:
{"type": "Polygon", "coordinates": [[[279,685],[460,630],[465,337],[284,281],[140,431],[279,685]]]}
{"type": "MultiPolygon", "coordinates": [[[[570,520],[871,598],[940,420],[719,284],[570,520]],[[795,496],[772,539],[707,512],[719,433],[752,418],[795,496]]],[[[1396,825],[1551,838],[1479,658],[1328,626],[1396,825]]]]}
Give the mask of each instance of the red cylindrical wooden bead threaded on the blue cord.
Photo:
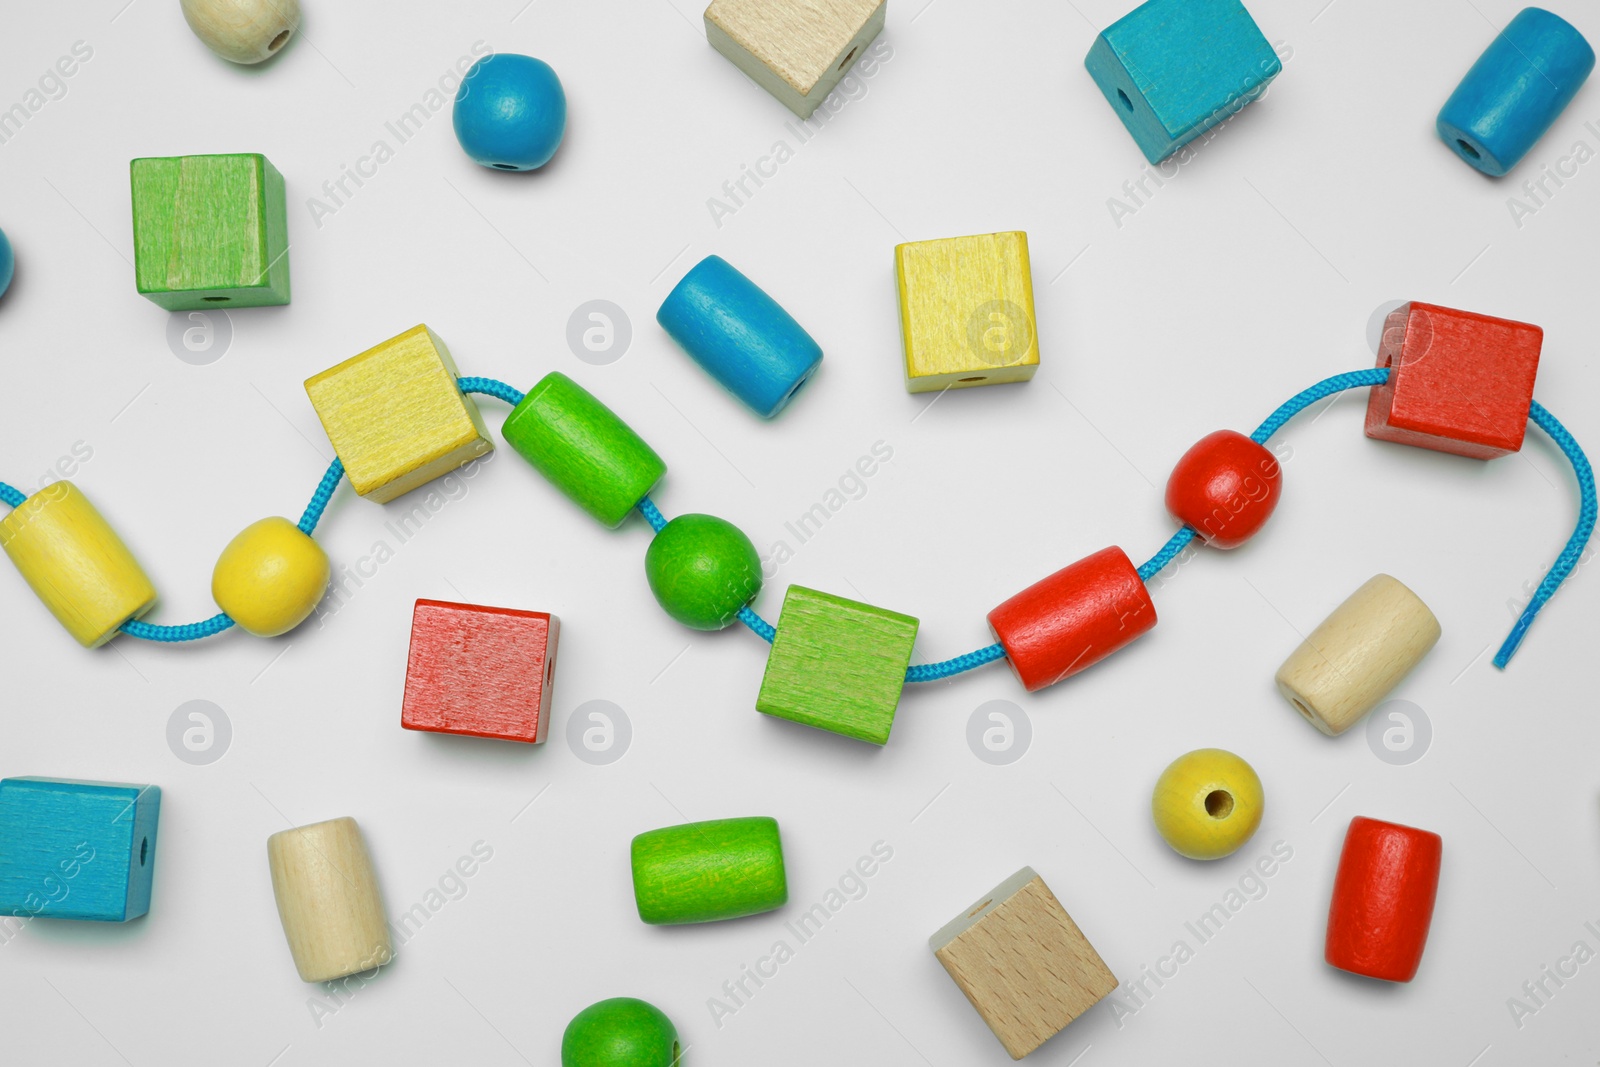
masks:
{"type": "Polygon", "coordinates": [[[1155,603],[1122,549],[1102,549],[989,613],[1029,693],[1098,664],[1155,625],[1155,603]]]}

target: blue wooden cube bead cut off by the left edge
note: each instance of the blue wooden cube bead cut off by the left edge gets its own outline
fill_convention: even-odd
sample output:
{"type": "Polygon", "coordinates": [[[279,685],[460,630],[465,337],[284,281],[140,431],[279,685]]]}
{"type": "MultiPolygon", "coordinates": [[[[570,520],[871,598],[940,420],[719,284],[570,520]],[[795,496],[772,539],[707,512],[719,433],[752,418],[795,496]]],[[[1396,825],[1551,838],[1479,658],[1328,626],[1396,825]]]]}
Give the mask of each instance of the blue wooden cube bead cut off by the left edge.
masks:
{"type": "Polygon", "coordinates": [[[123,923],[150,910],[155,785],[0,781],[0,915],[123,923]]]}

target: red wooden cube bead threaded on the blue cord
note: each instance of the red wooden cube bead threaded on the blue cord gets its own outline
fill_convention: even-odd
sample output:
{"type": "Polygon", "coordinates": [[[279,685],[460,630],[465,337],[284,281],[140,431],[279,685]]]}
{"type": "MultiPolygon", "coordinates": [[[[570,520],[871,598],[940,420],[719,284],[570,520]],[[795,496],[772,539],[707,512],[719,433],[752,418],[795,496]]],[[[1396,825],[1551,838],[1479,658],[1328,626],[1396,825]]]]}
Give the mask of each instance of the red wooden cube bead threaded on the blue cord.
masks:
{"type": "Polygon", "coordinates": [[[1472,459],[1522,448],[1544,330],[1509,318],[1403,304],[1384,322],[1366,435],[1472,459]]]}

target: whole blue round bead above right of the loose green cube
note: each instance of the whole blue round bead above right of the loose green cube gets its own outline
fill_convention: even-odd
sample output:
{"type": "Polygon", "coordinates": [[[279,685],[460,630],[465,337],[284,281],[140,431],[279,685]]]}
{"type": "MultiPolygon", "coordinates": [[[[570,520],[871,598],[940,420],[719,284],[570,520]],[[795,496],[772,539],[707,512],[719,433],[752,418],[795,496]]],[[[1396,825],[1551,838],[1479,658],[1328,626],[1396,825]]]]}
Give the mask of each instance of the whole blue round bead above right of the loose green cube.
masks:
{"type": "Polygon", "coordinates": [[[480,166],[531,171],[566,133],[566,93],[550,64],[498,53],[472,64],[456,91],[456,141],[480,166]]]}

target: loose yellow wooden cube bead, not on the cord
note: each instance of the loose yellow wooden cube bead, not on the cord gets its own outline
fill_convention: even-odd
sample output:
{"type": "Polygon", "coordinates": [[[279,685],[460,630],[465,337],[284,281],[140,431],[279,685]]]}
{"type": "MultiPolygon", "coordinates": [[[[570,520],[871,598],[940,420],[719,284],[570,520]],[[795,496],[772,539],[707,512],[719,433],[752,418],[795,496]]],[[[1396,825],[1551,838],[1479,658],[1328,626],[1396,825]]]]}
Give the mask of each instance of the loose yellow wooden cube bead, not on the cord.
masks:
{"type": "Polygon", "coordinates": [[[894,246],[906,390],[1026,382],[1038,370],[1027,234],[894,246]]]}

